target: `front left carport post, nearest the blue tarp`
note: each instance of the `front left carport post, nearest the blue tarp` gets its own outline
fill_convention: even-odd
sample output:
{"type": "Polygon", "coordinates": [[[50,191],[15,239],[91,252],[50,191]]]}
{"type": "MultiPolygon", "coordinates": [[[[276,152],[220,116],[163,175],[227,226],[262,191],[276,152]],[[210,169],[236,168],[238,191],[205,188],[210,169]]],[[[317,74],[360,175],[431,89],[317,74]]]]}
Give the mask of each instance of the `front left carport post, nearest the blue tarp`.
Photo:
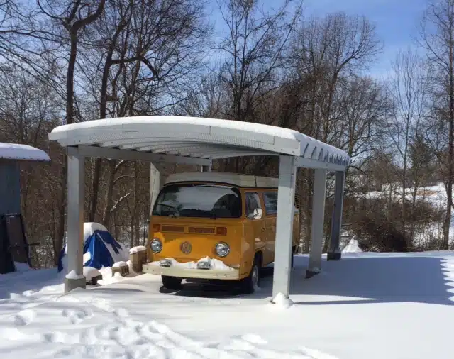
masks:
{"type": "Polygon", "coordinates": [[[84,174],[85,158],[68,149],[67,184],[67,277],[65,293],[85,288],[84,277],[84,174]],[[71,273],[71,274],[70,274],[71,273]]]}

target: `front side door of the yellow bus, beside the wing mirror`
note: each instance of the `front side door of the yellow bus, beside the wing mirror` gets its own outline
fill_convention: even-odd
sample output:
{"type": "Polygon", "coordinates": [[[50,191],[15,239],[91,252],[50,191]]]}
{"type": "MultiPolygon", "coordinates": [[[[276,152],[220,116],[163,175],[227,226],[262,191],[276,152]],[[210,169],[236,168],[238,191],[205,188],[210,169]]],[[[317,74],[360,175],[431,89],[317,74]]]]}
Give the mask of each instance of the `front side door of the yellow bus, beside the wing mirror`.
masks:
{"type": "Polygon", "coordinates": [[[252,226],[253,232],[253,238],[250,240],[255,243],[255,250],[262,250],[262,253],[265,254],[266,231],[258,192],[245,192],[245,209],[246,217],[252,226]]]}

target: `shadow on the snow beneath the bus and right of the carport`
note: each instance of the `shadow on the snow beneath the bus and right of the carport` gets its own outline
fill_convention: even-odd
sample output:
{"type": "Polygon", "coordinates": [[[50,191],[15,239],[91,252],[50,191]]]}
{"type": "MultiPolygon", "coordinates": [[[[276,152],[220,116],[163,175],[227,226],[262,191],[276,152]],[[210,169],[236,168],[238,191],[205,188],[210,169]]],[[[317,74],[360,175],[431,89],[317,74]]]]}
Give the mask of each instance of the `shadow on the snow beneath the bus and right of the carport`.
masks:
{"type": "MultiPolygon", "coordinates": [[[[310,296],[297,302],[306,305],[323,304],[367,304],[391,302],[416,302],[427,304],[453,305],[448,289],[449,278],[445,277],[442,258],[423,256],[343,258],[335,262],[323,260],[322,272],[307,280],[304,278],[307,257],[297,257],[292,270],[290,296],[310,296]],[[324,298],[323,298],[324,297],[324,298]],[[326,298],[348,297],[348,298],[326,298]],[[358,298],[358,299],[356,299],[358,298]]],[[[182,290],[167,291],[184,297],[266,298],[272,295],[272,267],[262,269],[260,290],[244,295],[236,285],[201,285],[196,281],[187,282],[182,290]]]]}

